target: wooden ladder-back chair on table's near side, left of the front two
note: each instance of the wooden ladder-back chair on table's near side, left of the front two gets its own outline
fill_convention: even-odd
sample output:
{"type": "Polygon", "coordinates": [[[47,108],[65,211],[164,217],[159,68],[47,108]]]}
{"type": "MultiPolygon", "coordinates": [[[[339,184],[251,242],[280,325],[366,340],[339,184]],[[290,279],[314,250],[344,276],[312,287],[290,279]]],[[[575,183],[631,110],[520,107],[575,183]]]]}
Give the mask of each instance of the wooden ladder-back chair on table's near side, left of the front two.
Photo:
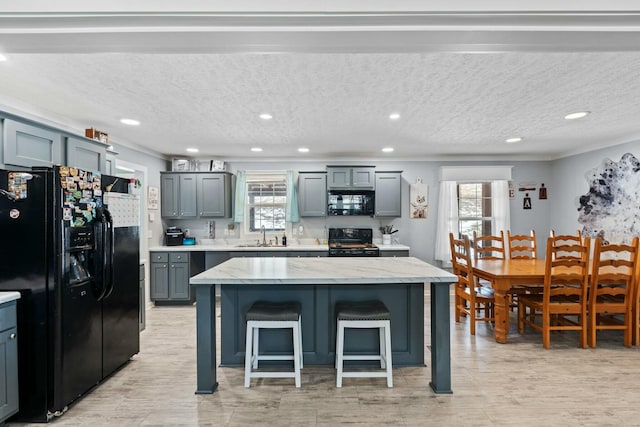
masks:
{"type": "Polygon", "coordinates": [[[518,298],[518,332],[524,333],[525,325],[541,331],[542,345],[548,349],[551,345],[551,331],[578,331],[580,347],[587,348],[591,240],[585,237],[578,244],[565,242],[560,238],[561,236],[556,236],[547,239],[542,293],[521,295],[518,298]]]}

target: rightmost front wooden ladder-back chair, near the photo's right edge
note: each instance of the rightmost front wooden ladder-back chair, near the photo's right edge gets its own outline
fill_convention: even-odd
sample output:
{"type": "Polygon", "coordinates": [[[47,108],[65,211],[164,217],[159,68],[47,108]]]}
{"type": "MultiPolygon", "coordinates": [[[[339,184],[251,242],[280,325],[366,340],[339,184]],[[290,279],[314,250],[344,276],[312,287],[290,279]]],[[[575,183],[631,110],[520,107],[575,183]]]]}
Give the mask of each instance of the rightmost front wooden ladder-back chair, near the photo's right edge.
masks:
{"type": "Polygon", "coordinates": [[[596,346],[599,330],[623,330],[631,347],[638,263],[638,238],[630,245],[595,241],[589,286],[589,345],[596,346]]]}

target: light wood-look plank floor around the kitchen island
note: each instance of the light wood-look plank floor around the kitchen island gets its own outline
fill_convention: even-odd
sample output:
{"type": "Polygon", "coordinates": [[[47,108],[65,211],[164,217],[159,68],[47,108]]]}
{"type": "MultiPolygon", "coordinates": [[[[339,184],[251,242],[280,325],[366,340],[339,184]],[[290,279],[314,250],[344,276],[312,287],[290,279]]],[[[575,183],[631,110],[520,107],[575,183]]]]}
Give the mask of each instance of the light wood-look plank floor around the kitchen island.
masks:
{"type": "Polygon", "coordinates": [[[600,333],[588,350],[577,333],[555,334],[544,350],[540,334],[519,336],[515,321],[508,344],[495,343],[490,325],[472,337],[466,321],[454,323],[452,395],[431,391],[428,366],[394,369],[392,389],[383,378],[346,378],[336,389],[334,370],[313,366],[300,389],[292,379],[254,379],[245,389],[242,368],[218,368],[219,391],[195,395],[195,307],[154,307],[147,319],[140,354],[53,425],[640,425],[640,350],[623,347],[618,331],[600,333]]]}

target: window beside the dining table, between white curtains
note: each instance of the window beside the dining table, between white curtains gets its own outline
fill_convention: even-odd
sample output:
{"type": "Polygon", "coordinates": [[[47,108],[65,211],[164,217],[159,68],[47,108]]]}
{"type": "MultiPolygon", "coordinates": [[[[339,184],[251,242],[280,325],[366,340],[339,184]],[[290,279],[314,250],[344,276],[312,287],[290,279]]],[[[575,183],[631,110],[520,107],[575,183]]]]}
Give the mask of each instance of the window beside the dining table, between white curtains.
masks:
{"type": "Polygon", "coordinates": [[[458,184],[458,232],[490,236],[493,222],[490,182],[458,184]]]}

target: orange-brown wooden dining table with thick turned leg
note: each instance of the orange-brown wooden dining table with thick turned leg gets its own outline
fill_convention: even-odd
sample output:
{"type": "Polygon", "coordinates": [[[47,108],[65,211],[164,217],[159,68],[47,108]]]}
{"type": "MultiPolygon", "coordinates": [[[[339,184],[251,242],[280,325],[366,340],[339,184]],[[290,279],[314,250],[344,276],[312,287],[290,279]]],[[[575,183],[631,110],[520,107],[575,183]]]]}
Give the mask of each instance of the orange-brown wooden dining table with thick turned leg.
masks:
{"type": "Polygon", "coordinates": [[[544,285],[545,260],[507,259],[475,261],[473,273],[491,282],[495,295],[495,339],[507,342],[509,334],[509,290],[518,285],[544,285]]]}

